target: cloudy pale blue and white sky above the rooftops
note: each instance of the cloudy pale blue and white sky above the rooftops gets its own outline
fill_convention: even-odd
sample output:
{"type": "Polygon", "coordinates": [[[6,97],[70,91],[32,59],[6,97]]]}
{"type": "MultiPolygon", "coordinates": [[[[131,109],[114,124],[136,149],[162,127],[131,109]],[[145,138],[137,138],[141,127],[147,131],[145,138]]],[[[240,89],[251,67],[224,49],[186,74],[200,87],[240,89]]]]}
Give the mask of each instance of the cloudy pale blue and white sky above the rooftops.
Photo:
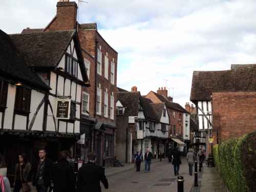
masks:
{"type": "MultiPolygon", "coordinates": [[[[0,0],[0,29],[13,34],[45,28],[57,2],[0,0]]],[[[166,87],[185,108],[194,71],[256,63],[255,0],[75,2],[78,22],[97,23],[100,35],[118,52],[117,86],[127,91],[136,86],[146,95],[166,87]]]]}

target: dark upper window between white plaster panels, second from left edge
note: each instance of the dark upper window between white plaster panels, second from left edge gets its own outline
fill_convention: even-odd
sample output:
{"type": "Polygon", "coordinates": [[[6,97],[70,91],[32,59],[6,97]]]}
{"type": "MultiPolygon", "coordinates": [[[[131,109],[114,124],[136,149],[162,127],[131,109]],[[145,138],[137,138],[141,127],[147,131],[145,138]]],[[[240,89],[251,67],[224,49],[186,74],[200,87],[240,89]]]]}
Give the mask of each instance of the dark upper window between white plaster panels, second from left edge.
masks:
{"type": "Polygon", "coordinates": [[[16,87],[15,110],[30,111],[31,90],[24,87],[16,87]]]}

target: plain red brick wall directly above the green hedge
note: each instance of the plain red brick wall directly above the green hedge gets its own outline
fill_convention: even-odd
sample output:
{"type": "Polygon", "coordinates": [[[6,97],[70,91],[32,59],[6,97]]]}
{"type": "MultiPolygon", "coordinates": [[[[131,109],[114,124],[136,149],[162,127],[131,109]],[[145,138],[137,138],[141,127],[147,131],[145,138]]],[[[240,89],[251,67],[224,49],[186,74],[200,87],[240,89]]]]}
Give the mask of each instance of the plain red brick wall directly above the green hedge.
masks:
{"type": "Polygon", "coordinates": [[[241,137],[256,129],[256,92],[212,93],[212,112],[214,144],[241,137]]]}

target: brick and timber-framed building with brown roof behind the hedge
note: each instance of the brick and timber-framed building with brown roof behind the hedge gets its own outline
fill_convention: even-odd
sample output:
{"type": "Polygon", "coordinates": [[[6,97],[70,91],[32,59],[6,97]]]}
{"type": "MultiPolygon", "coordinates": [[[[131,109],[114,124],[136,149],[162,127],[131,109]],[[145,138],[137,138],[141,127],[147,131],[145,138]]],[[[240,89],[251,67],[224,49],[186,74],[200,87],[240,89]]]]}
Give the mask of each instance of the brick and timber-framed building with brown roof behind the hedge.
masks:
{"type": "MultiPolygon", "coordinates": [[[[190,100],[199,130],[212,144],[256,129],[256,65],[231,65],[225,71],[194,71],[190,100]]],[[[207,142],[210,154],[211,147],[207,142]]]]}

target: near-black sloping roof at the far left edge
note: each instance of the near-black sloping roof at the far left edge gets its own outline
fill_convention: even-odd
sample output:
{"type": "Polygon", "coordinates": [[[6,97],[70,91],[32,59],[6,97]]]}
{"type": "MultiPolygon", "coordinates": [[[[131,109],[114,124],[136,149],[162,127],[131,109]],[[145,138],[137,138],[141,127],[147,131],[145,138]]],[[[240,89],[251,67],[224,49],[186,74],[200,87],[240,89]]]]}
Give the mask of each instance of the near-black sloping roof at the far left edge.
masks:
{"type": "Polygon", "coordinates": [[[9,79],[33,84],[43,89],[50,89],[28,67],[22,53],[17,50],[10,36],[2,30],[0,30],[0,74],[9,79]]]}

